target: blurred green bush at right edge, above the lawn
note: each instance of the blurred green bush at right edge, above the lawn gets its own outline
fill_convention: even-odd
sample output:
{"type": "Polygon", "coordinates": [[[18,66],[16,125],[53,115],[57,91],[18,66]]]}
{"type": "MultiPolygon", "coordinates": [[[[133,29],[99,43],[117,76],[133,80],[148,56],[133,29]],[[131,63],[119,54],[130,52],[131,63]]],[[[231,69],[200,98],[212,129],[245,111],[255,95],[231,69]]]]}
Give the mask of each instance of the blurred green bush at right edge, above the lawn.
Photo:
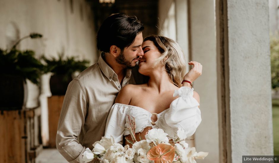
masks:
{"type": "Polygon", "coordinates": [[[271,85],[279,90],[279,34],[270,36],[271,85]]]}

